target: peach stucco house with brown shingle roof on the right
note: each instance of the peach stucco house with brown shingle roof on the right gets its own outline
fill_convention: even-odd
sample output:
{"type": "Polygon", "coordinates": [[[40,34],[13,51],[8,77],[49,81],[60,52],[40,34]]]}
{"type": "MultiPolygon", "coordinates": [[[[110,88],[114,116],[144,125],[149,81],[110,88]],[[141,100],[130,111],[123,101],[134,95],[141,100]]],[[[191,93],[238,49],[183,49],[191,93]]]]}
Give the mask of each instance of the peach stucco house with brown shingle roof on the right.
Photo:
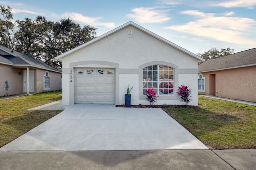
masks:
{"type": "Polygon", "coordinates": [[[256,102],[256,48],[198,65],[198,93],[256,102]]]}

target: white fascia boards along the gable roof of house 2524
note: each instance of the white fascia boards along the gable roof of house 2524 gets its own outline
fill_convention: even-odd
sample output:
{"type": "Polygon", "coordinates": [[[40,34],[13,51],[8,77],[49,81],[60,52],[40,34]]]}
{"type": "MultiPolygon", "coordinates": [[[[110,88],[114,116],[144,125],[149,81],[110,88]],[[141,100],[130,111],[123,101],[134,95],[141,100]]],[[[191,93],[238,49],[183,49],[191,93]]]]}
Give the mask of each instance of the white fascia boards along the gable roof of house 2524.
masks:
{"type": "Polygon", "coordinates": [[[182,48],[182,47],[172,43],[171,41],[168,41],[167,39],[164,39],[163,37],[160,37],[159,35],[149,31],[148,29],[145,29],[144,27],[142,27],[142,26],[140,26],[140,25],[138,25],[138,24],[136,24],[136,23],[134,23],[132,21],[129,21],[129,22],[123,24],[123,25],[120,25],[119,27],[116,27],[115,29],[112,29],[111,31],[108,31],[107,33],[104,33],[103,35],[100,35],[99,37],[97,37],[95,39],[92,39],[91,41],[88,41],[87,43],[84,43],[83,45],[80,45],[80,46],[78,46],[78,47],[76,47],[76,48],[74,48],[74,49],[72,49],[72,50],[70,50],[70,51],[68,51],[66,53],[63,53],[62,55],[59,55],[59,56],[55,57],[55,60],[62,61],[63,57],[65,57],[67,55],[70,55],[71,53],[74,53],[75,51],[77,51],[79,49],[82,49],[83,47],[86,47],[87,45],[90,45],[90,44],[92,44],[92,43],[94,43],[96,41],[99,41],[100,39],[102,39],[104,37],[107,37],[108,35],[116,32],[116,31],[119,31],[120,29],[122,29],[124,27],[127,27],[128,25],[132,25],[132,26],[140,29],[141,31],[143,31],[145,33],[148,33],[149,35],[155,37],[156,39],[159,39],[160,41],[163,41],[164,43],[167,43],[168,45],[170,45],[170,46],[172,46],[172,47],[174,47],[174,48],[176,48],[176,49],[178,49],[178,50],[180,50],[180,51],[182,51],[182,52],[184,52],[184,53],[186,53],[186,54],[188,54],[188,55],[190,55],[190,56],[192,56],[192,57],[194,57],[196,59],[198,59],[199,61],[202,61],[202,62],[205,61],[204,59],[202,59],[198,55],[195,55],[194,53],[192,53],[192,52],[190,52],[190,51],[188,51],[188,50],[186,50],[186,49],[184,49],[184,48],[182,48]]]}

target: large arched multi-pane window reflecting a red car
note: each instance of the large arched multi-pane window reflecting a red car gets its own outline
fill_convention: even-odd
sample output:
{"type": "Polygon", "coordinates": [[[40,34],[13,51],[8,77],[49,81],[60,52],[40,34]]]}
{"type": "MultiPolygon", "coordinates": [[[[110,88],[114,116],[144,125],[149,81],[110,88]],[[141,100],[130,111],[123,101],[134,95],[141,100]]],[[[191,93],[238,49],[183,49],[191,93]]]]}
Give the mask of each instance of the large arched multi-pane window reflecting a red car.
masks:
{"type": "Polygon", "coordinates": [[[157,95],[174,95],[174,68],[152,65],[143,68],[143,94],[154,87],[157,95]]]}

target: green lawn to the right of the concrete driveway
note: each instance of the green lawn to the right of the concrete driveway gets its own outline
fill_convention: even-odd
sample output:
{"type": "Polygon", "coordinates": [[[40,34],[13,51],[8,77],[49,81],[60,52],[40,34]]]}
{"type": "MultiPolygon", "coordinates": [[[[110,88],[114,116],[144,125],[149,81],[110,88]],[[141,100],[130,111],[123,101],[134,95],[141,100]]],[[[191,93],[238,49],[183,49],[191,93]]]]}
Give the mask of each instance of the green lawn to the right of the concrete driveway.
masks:
{"type": "Polygon", "coordinates": [[[210,149],[255,149],[256,107],[199,96],[198,109],[164,109],[210,149]]]}

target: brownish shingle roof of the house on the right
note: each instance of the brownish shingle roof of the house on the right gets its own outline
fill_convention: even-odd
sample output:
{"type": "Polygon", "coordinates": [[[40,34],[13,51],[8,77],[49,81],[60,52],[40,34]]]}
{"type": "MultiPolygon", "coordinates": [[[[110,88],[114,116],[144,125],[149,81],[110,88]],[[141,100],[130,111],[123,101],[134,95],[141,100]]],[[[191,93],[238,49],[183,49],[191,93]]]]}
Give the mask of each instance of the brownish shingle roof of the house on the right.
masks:
{"type": "Polygon", "coordinates": [[[256,65],[256,48],[201,63],[198,65],[198,72],[224,70],[250,65],[256,65]]]}

